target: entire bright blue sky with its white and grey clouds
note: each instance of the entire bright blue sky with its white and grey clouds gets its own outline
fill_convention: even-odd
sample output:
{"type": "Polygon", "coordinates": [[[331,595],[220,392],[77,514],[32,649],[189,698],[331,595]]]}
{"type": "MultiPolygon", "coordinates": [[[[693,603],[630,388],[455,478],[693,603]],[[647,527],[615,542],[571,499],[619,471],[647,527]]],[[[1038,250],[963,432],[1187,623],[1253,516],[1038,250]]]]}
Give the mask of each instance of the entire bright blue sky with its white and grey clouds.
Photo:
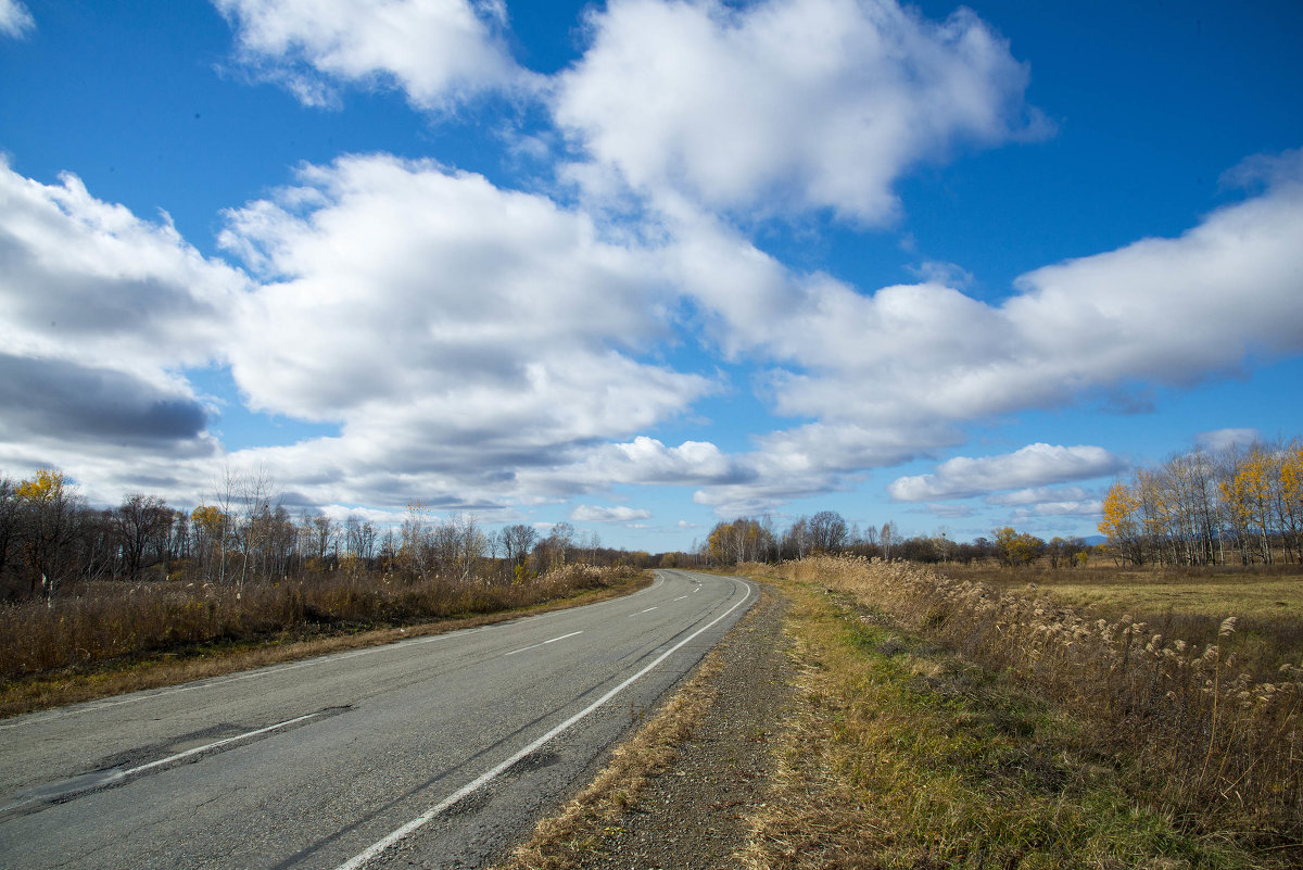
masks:
{"type": "Polygon", "coordinates": [[[1294,438],[1296,3],[0,0],[0,471],[1092,534],[1294,438]]]}

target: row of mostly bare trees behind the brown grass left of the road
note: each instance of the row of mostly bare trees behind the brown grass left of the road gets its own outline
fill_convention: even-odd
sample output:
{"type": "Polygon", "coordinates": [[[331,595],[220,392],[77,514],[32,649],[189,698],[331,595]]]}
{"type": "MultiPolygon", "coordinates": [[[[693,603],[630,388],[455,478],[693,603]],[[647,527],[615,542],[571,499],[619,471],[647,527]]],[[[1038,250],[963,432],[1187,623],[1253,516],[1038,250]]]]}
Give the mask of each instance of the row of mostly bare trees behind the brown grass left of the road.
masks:
{"type": "Polygon", "coordinates": [[[653,564],[646,552],[601,546],[568,522],[485,529],[474,514],[437,517],[409,505],[399,527],[351,514],[292,514],[265,474],[227,474],[185,511],[132,492],[93,508],[61,471],[14,481],[0,474],[0,598],[52,599],[103,580],[176,580],[215,586],[268,583],[313,573],[378,572],[400,578],[528,582],[572,561],[653,564]]]}

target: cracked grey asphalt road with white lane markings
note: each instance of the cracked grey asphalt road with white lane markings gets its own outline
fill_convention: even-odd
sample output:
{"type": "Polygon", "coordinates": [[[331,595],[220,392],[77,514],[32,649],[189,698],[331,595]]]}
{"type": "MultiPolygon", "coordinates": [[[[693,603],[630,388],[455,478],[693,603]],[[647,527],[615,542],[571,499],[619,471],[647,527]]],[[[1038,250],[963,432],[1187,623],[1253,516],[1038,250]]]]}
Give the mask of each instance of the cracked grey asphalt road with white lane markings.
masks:
{"type": "Polygon", "coordinates": [[[589,607],[0,722],[0,867],[474,867],[754,600],[589,607]]]}

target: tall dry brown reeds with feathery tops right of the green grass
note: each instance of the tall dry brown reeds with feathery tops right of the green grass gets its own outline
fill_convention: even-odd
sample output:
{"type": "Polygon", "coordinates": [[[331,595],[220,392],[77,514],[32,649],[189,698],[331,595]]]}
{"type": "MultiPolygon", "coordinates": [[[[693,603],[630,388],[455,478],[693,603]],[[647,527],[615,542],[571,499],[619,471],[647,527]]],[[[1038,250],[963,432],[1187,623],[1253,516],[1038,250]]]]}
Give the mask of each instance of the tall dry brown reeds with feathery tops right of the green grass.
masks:
{"type": "MultiPolygon", "coordinates": [[[[855,595],[1048,701],[1097,723],[1101,751],[1134,766],[1144,791],[1196,827],[1303,839],[1303,669],[1239,673],[1221,645],[1091,619],[1035,595],[956,581],[908,563],[813,557],[791,580],[855,595]]],[[[1221,624],[1222,638],[1235,619],[1221,624]]]]}

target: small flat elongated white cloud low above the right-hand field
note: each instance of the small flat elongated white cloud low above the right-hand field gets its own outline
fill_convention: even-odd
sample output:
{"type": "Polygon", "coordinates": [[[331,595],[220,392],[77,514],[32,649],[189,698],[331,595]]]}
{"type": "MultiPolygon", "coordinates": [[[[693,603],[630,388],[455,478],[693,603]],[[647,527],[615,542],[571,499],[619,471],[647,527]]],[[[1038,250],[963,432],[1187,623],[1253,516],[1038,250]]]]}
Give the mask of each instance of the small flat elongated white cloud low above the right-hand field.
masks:
{"type": "Polygon", "coordinates": [[[1123,465],[1101,447],[1028,444],[1002,456],[956,456],[938,465],[933,474],[896,478],[887,486],[887,494],[898,501],[963,499],[997,490],[1115,474],[1123,465]]]}

